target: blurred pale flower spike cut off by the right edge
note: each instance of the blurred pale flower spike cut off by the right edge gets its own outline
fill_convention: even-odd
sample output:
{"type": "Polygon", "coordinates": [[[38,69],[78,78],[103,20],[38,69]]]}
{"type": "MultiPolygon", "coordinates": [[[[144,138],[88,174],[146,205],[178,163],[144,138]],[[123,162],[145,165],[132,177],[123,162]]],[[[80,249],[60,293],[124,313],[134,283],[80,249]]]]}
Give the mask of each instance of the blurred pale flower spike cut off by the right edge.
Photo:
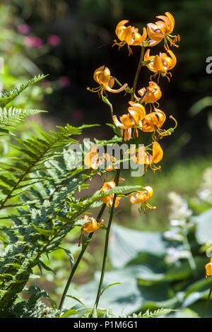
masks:
{"type": "Polygon", "coordinates": [[[203,181],[197,194],[202,201],[212,203],[212,167],[208,167],[204,171],[203,181]]]}

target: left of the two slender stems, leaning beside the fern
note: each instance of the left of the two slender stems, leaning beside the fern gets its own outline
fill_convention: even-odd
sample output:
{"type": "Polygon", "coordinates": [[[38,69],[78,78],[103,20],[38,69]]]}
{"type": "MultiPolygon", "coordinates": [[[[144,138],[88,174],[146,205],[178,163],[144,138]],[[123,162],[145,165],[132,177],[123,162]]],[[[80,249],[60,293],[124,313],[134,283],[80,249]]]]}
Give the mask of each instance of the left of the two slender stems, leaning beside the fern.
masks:
{"type": "MultiPolygon", "coordinates": [[[[105,211],[105,207],[106,207],[106,204],[104,203],[104,204],[102,205],[102,208],[101,208],[101,210],[100,210],[100,213],[98,214],[97,220],[100,219],[100,218],[102,217],[102,213],[105,211]]],[[[69,290],[69,286],[70,286],[71,281],[72,281],[72,279],[73,279],[73,275],[74,275],[74,273],[76,272],[76,269],[78,268],[78,264],[80,263],[81,258],[83,257],[83,254],[84,254],[84,252],[86,251],[86,249],[87,249],[87,247],[88,247],[88,243],[90,242],[90,241],[88,241],[88,240],[92,239],[92,237],[93,237],[93,233],[90,233],[90,234],[88,235],[87,239],[86,239],[86,242],[84,242],[84,243],[82,244],[81,252],[80,252],[80,254],[78,255],[78,259],[76,260],[76,263],[74,264],[74,266],[73,266],[73,268],[72,268],[72,270],[71,270],[71,274],[70,274],[70,276],[69,276],[69,279],[68,279],[68,281],[67,281],[67,283],[66,283],[66,287],[65,287],[64,292],[63,292],[63,295],[62,295],[62,297],[61,297],[61,301],[60,301],[60,304],[59,304],[59,309],[61,309],[61,308],[63,307],[64,300],[65,300],[65,297],[66,297],[66,294],[67,294],[67,292],[68,292],[68,290],[69,290]]]]}

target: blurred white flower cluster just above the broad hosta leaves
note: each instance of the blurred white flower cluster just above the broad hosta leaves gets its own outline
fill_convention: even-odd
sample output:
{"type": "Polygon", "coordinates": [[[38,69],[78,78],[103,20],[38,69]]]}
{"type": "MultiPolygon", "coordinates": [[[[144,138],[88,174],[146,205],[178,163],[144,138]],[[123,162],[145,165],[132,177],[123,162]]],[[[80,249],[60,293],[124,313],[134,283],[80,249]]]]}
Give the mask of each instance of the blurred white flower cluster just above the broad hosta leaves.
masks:
{"type": "Polygon", "coordinates": [[[192,215],[192,210],[188,208],[187,201],[184,201],[175,191],[171,191],[168,197],[171,201],[169,214],[170,225],[183,227],[186,224],[187,218],[192,215]]]}

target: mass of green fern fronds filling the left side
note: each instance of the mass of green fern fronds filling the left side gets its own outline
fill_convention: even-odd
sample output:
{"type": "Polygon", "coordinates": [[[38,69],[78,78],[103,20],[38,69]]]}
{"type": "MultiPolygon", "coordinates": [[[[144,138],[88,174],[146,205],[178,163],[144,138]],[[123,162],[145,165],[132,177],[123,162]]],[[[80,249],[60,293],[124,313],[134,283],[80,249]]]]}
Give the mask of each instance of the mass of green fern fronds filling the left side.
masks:
{"type": "MultiPolygon", "coordinates": [[[[30,80],[8,95],[4,93],[2,102],[6,105],[9,98],[16,97],[28,85],[40,81],[30,80]],[[7,99],[8,98],[8,99],[7,99]]],[[[3,104],[2,104],[3,105],[3,104]]],[[[11,136],[16,123],[23,121],[29,114],[37,111],[21,112],[19,109],[1,109],[1,126],[11,136]]],[[[61,249],[61,242],[74,227],[81,225],[81,215],[90,208],[102,205],[100,198],[108,194],[128,195],[141,186],[120,186],[101,193],[74,197],[78,191],[88,189],[89,179],[103,170],[88,170],[78,167],[78,157],[69,150],[69,146],[78,143],[73,136],[80,135],[90,126],[74,127],[69,124],[58,126],[57,131],[40,131],[40,136],[15,138],[13,148],[16,158],[1,162],[0,171],[0,210],[1,238],[5,251],[0,257],[0,316],[6,317],[42,317],[58,314],[40,302],[41,297],[49,296],[38,288],[30,289],[30,299],[20,302],[20,293],[26,289],[28,280],[34,278],[33,268],[54,273],[42,258],[52,251],[61,249]],[[7,223],[4,225],[4,220],[7,223]],[[8,223],[9,222],[9,223],[8,223]]],[[[110,143],[116,143],[114,138],[110,143]]],[[[98,141],[104,146],[107,141],[98,141]]],[[[83,146],[78,145],[83,152],[83,146]]],[[[71,266],[73,256],[68,254],[71,266]]],[[[73,295],[70,295],[73,297],[73,295]]],[[[51,299],[49,299],[51,301],[51,299]]]]}

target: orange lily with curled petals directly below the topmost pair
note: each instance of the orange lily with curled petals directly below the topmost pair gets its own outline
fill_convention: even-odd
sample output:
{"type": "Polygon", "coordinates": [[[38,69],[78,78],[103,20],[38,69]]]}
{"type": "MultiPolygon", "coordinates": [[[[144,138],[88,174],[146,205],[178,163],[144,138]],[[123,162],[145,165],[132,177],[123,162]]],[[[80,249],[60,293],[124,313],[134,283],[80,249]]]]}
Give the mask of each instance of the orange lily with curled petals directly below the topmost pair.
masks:
{"type": "MultiPolygon", "coordinates": [[[[177,59],[175,57],[175,54],[170,51],[170,49],[167,50],[167,53],[170,55],[170,57],[167,56],[166,53],[160,53],[159,55],[151,55],[150,56],[150,49],[147,49],[146,53],[144,54],[144,61],[151,61],[146,66],[150,71],[153,71],[155,74],[153,76],[158,75],[158,81],[160,78],[160,74],[162,76],[166,76],[167,74],[172,77],[171,73],[167,72],[170,71],[170,69],[175,67],[175,64],[177,63],[177,59]]],[[[168,78],[168,81],[170,81],[170,78],[168,78]]]]}

